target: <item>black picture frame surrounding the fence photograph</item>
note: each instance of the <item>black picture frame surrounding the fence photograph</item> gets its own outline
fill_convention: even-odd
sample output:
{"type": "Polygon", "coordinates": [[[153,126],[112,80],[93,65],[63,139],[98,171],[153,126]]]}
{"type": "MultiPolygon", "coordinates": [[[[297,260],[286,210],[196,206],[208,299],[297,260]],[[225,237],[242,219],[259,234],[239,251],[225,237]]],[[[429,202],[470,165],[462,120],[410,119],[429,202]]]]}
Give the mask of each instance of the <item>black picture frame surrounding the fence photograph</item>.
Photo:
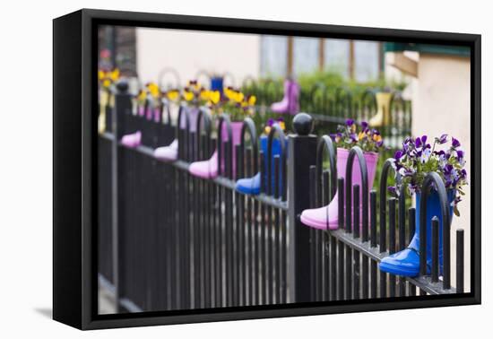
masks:
{"type": "Polygon", "coordinates": [[[479,304],[480,263],[480,35],[420,30],[267,22],[82,9],[53,21],[53,317],[80,329],[151,326],[292,317],[390,309],[479,304]],[[471,48],[471,292],[458,295],[296,303],[271,307],[97,314],[96,137],[97,35],[99,24],[371,39],[446,44],[471,48]]]}

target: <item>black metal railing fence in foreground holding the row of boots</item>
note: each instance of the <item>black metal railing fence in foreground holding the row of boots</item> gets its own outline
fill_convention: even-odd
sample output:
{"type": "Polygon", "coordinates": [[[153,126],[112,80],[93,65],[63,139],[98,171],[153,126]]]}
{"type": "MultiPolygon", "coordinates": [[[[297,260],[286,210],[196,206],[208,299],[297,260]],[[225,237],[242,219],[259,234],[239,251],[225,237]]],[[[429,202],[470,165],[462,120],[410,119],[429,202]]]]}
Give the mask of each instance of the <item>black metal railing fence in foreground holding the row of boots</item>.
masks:
{"type": "MultiPolygon", "coordinates": [[[[99,135],[98,256],[100,278],[113,286],[120,311],[384,298],[414,295],[416,289],[420,294],[463,291],[463,231],[457,236],[453,288],[447,213],[443,279],[436,274],[437,259],[431,276],[425,271],[417,278],[396,278],[378,272],[376,265],[383,257],[407,245],[415,227],[414,209],[405,211],[403,194],[398,201],[387,199],[389,162],[379,192],[368,192],[366,163],[358,147],[350,152],[347,173],[356,160],[362,187],[338,178],[332,142],[309,134],[310,117],[298,116],[293,124],[296,134],[288,137],[272,128],[269,150],[272,140],[281,144],[281,155],[272,157],[259,151],[250,119],[244,122],[241,143],[233,144],[226,115],[217,120],[219,133],[214,134],[212,118],[204,109],[196,128],[191,128],[186,107],[179,110],[177,121],[186,121],[181,126],[172,124],[166,105],[151,118],[134,114],[125,84],[119,84],[115,98],[108,114],[113,118],[108,117],[107,126],[112,128],[99,135]],[[128,148],[119,142],[122,135],[137,130],[144,135],[142,145],[128,148]],[[223,130],[228,137],[221,135],[223,130]],[[177,161],[157,160],[154,148],[175,138],[177,161]],[[190,175],[190,162],[209,159],[216,147],[219,176],[190,175]],[[329,170],[322,167],[324,152],[329,170]],[[258,170],[267,172],[261,176],[260,195],[235,191],[237,178],[252,177],[258,170]],[[344,205],[359,205],[360,189],[363,208],[351,213],[344,205]],[[303,210],[328,204],[336,191],[339,215],[344,215],[338,230],[314,230],[299,221],[303,210]]],[[[430,174],[427,180],[427,187],[434,182],[441,192],[441,179],[430,174]]],[[[418,216],[421,225],[426,224],[424,215],[426,211],[418,216]]],[[[428,241],[438,246],[437,239],[428,241]]]]}

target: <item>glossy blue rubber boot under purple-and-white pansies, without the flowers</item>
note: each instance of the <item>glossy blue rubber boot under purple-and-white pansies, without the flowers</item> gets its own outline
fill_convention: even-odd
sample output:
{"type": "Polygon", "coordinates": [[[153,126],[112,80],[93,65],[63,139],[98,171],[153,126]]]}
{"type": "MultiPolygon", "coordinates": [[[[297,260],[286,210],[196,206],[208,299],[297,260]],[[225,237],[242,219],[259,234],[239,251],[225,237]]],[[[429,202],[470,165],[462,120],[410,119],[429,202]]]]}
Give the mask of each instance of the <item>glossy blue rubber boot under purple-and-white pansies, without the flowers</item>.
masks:
{"type": "MultiPolygon", "coordinates": [[[[380,271],[415,277],[419,275],[419,202],[421,199],[421,194],[416,194],[416,230],[414,232],[414,236],[411,239],[411,243],[408,248],[403,249],[400,252],[396,252],[393,255],[387,256],[378,265],[380,271]]],[[[454,191],[449,190],[447,192],[448,203],[452,203],[454,200],[454,191]]],[[[450,206],[450,218],[452,220],[453,207],[450,206]]],[[[437,191],[432,191],[427,199],[427,274],[431,272],[431,218],[434,216],[438,217],[439,222],[439,230],[438,230],[438,262],[439,262],[439,271],[442,272],[443,265],[443,239],[442,239],[442,213],[440,209],[440,200],[438,198],[437,191]]]]}

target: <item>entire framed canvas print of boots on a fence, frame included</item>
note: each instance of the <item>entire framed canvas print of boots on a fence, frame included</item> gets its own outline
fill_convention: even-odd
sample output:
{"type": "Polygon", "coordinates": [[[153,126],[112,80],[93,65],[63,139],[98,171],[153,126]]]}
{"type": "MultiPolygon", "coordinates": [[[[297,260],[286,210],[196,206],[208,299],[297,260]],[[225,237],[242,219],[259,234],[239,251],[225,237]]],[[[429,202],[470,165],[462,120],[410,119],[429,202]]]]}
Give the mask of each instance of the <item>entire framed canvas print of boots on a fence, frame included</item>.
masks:
{"type": "Polygon", "coordinates": [[[480,36],[53,24],[56,320],[480,303],[480,36]]]}

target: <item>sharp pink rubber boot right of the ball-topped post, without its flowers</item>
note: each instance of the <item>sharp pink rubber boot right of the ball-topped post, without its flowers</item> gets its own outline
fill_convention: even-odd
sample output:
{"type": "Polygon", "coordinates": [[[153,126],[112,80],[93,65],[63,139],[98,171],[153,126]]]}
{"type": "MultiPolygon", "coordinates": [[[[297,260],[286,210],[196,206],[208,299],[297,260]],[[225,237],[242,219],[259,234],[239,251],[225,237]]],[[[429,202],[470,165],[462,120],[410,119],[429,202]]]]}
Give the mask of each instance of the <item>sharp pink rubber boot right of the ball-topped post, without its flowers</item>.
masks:
{"type": "MultiPolygon", "coordinates": [[[[337,177],[346,179],[346,165],[350,150],[343,148],[337,149],[337,177]]],[[[364,154],[367,161],[368,168],[368,191],[373,187],[376,175],[376,163],[378,162],[378,153],[366,152],[364,154]]],[[[361,185],[361,174],[359,170],[358,159],[356,159],[352,165],[352,184],[361,185]]],[[[361,192],[362,195],[362,192],[361,192]]],[[[338,194],[333,196],[333,200],[330,204],[303,211],[301,213],[300,220],[305,225],[313,227],[318,230],[336,230],[339,226],[339,201],[338,194]]],[[[362,202],[362,198],[359,199],[362,202]]],[[[352,204],[351,204],[352,205],[352,204]]]]}

